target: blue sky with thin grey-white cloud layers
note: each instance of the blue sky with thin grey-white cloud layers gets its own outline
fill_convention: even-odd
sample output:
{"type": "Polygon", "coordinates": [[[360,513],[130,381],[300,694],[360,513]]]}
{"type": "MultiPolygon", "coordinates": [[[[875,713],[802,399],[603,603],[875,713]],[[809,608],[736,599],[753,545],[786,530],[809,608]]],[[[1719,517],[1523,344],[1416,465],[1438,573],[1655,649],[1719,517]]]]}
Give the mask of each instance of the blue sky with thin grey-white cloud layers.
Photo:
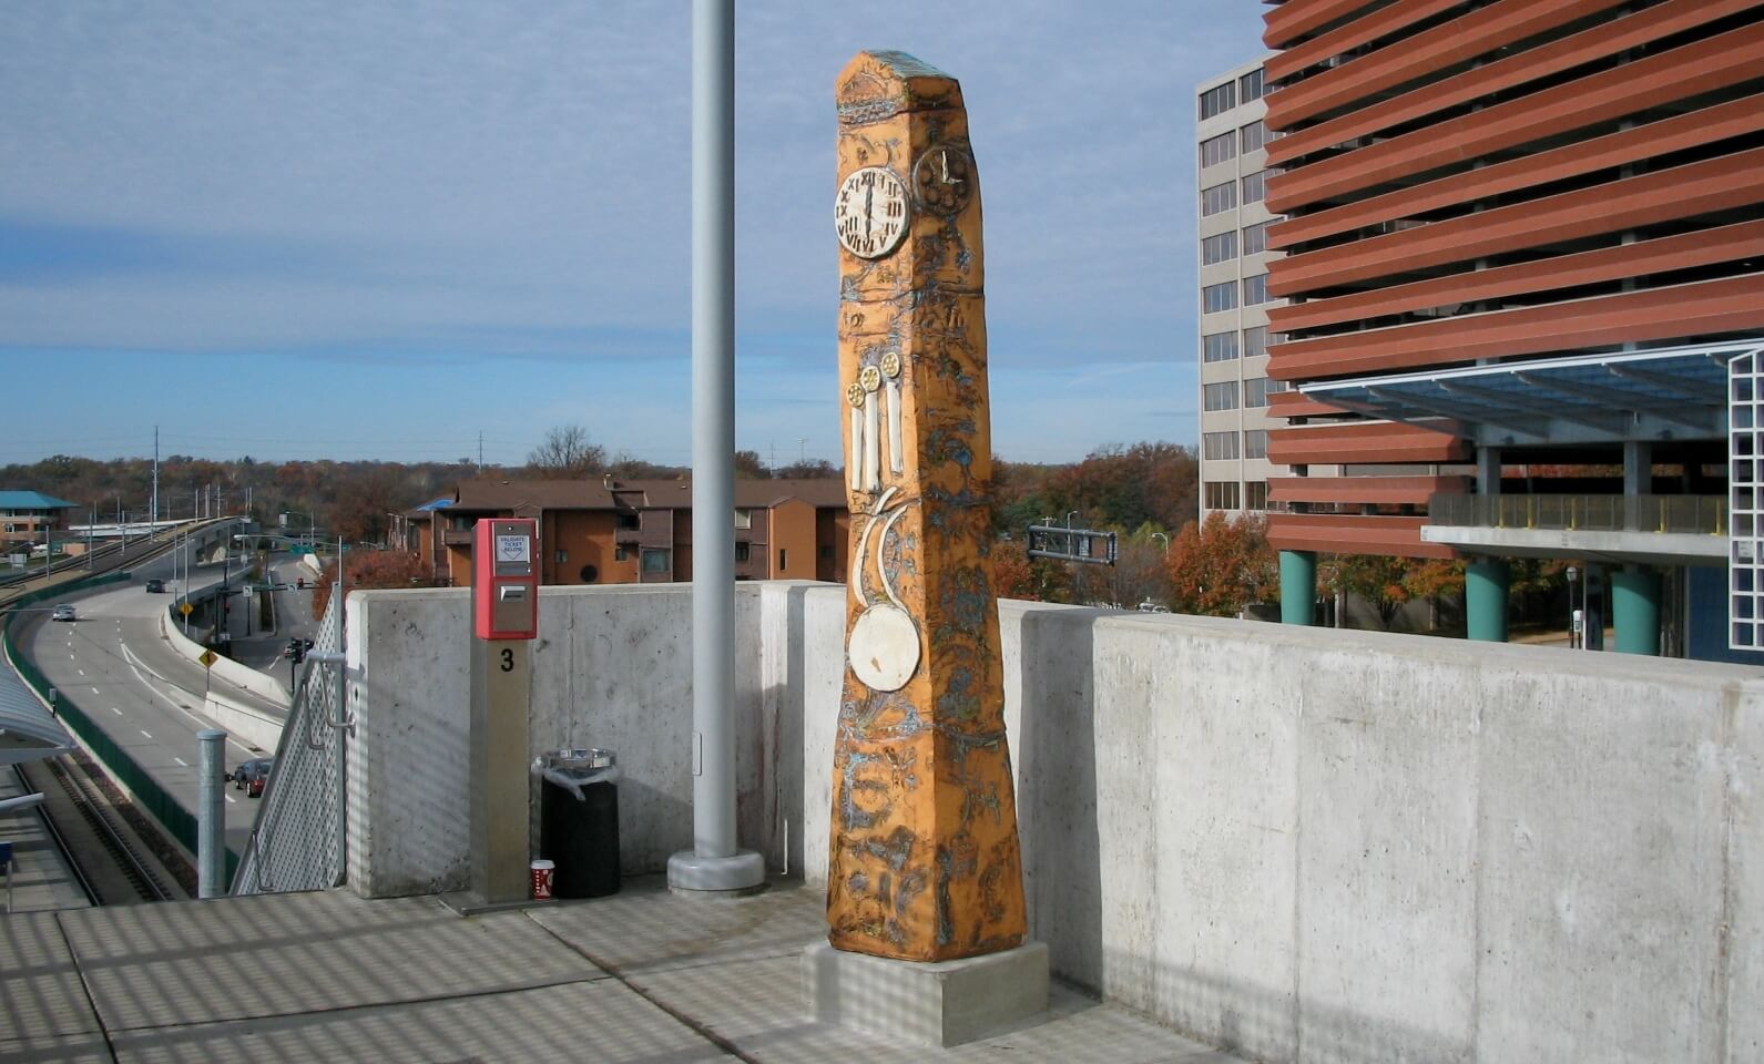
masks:
{"type": "MultiPolygon", "coordinates": [[[[995,450],[1194,441],[1194,86],[1254,0],[737,4],[741,448],[838,457],[833,79],[961,79],[995,450]],[[886,14],[882,14],[886,12],[886,14]]],[[[684,464],[690,4],[58,0],[0,28],[0,464],[684,464]]]]}

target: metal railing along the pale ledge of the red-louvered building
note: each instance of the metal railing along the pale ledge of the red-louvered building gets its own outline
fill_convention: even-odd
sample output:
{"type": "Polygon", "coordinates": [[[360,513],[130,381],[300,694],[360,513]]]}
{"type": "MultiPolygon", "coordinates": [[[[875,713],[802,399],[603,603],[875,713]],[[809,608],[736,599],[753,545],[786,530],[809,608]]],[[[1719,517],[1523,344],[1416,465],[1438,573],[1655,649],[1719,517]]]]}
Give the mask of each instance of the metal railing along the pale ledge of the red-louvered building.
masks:
{"type": "Polygon", "coordinates": [[[1427,499],[1427,524],[1727,535],[1725,496],[1461,496],[1427,499]]]}

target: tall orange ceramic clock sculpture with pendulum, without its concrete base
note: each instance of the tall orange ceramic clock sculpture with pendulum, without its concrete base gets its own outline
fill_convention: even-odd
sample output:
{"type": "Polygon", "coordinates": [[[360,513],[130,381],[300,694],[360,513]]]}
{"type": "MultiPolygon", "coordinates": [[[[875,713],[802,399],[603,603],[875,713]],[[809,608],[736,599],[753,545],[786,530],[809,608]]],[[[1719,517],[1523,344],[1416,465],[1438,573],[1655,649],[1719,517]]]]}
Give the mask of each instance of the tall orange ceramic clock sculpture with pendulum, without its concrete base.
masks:
{"type": "Polygon", "coordinates": [[[840,388],[852,508],[829,942],[951,960],[1023,940],[991,589],[981,194],[954,78],[838,79],[840,388]]]}

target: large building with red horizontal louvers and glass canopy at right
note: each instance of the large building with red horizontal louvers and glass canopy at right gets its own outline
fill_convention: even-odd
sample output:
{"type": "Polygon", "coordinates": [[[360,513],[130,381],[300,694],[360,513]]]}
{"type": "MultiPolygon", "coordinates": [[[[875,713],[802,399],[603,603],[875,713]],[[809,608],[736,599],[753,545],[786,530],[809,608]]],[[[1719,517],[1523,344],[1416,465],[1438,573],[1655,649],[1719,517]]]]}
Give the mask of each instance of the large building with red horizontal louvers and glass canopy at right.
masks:
{"type": "Polygon", "coordinates": [[[1729,386],[1764,349],[1764,0],[1265,25],[1282,618],[1311,621],[1319,551],[1457,556],[1471,637],[1503,639],[1506,559],[1596,559],[1588,632],[1609,611],[1618,649],[1757,646],[1725,612],[1764,595],[1729,565],[1759,552],[1729,386]]]}

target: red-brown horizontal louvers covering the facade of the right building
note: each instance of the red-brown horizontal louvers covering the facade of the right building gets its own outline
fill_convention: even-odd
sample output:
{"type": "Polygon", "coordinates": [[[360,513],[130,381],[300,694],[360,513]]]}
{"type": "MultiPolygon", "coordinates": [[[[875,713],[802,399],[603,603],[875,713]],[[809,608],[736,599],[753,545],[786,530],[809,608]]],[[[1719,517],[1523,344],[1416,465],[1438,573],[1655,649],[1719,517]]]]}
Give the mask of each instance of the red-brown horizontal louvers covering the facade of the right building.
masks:
{"type": "MultiPolygon", "coordinates": [[[[1764,333],[1764,0],[1274,0],[1265,23],[1270,379],[1764,333]]],[[[1485,441],[1448,411],[1383,422],[1295,390],[1268,413],[1277,547],[1450,554],[1422,540],[1425,498],[1478,491],[1485,441]]],[[[1725,462],[1718,438],[1648,445],[1725,462]]],[[[1494,476],[1623,462],[1524,436],[1492,453],[1494,476]]]]}

